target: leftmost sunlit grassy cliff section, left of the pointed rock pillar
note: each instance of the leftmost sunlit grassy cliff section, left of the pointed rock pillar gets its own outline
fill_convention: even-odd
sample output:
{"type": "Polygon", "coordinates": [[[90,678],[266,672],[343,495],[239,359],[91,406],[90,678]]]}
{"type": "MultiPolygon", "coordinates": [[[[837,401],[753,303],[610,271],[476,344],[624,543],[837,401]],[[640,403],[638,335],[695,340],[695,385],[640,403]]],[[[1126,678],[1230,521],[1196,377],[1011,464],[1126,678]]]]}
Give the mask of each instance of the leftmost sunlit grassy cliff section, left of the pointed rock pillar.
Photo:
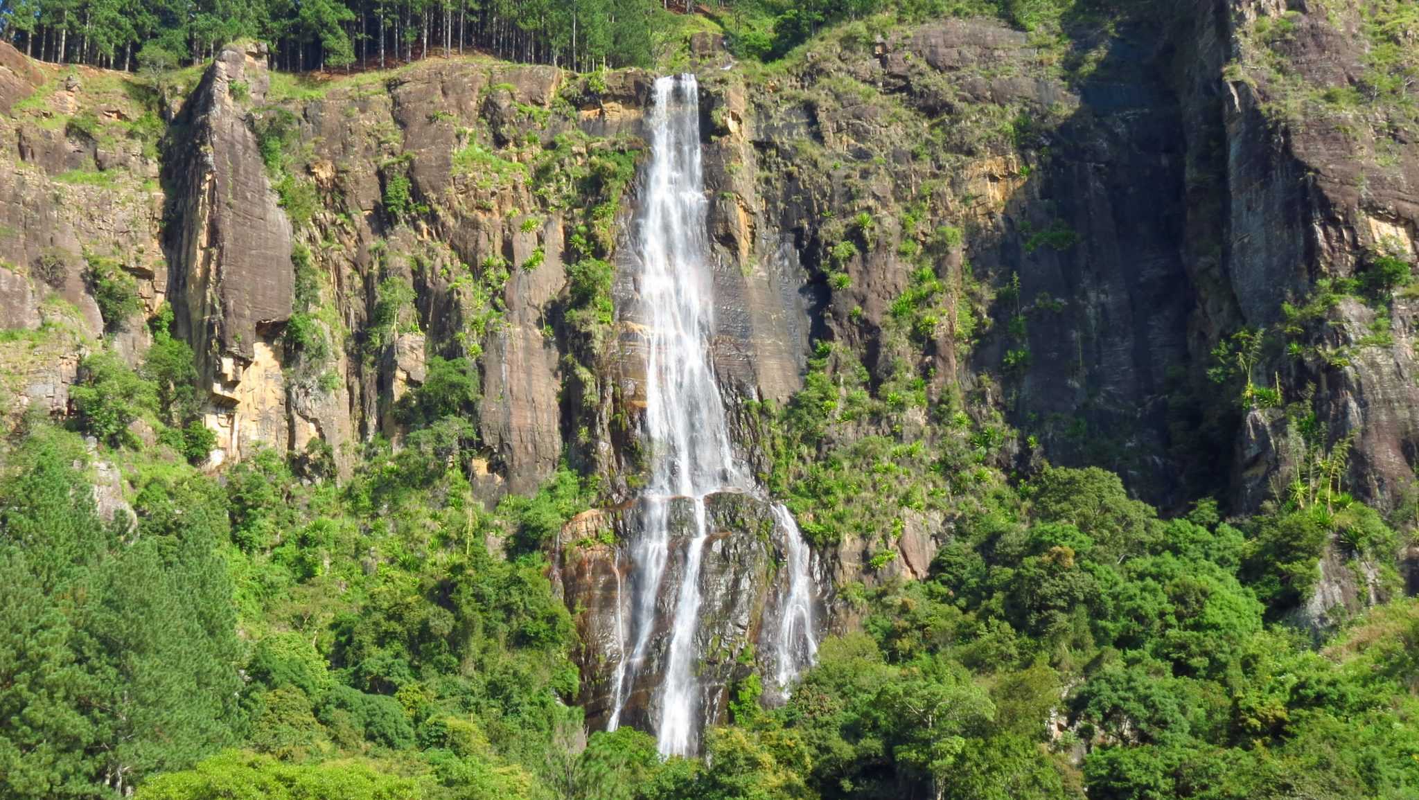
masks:
{"type": "Polygon", "coordinates": [[[106,332],[136,360],[166,296],[158,132],[111,74],[38,65],[6,44],[0,108],[0,404],[61,416],[79,359],[106,332]],[[98,271],[132,281],[138,302],[101,311],[98,271]]]}

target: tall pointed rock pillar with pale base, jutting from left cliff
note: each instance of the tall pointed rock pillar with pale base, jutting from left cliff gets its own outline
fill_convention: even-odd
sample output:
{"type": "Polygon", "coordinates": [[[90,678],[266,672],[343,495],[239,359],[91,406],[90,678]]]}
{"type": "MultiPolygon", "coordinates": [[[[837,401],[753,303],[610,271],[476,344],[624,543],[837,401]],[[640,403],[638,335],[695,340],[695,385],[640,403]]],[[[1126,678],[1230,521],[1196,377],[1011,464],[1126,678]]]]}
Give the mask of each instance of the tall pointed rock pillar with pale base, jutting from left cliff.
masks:
{"type": "Polygon", "coordinates": [[[247,121],[247,104],[268,87],[261,50],[223,50],[173,121],[165,159],[176,332],[211,387],[217,462],[258,444],[284,454],[291,440],[280,343],[292,308],[291,224],[247,121]]]}

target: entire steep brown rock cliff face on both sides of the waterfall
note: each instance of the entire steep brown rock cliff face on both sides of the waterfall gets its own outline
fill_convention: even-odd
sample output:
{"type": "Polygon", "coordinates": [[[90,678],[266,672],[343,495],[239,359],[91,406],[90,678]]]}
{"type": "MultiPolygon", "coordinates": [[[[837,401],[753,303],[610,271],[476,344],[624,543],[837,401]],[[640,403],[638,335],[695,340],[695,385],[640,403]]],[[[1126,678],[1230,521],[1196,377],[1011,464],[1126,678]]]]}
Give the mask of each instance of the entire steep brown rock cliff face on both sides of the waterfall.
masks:
{"type": "MultiPolygon", "coordinates": [[[[1412,506],[1419,295],[1382,272],[1416,258],[1419,149],[1379,81],[1391,34],[1351,4],[1260,0],[1071,30],[858,24],[729,70],[697,40],[710,356],[736,457],[817,539],[824,626],[853,624],[861,586],[925,576],[959,504],[1044,458],[1171,509],[1412,506]],[[765,424],[785,407],[815,435],[765,424]],[[861,491],[833,508],[796,491],[839,478],[861,491]]],[[[623,691],[647,722],[664,626],[629,684],[616,670],[647,470],[630,237],[653,78],[478,58],[291,78],[228,47],[160,157],[162,92],[122,81],[0,44],[7,411],[67,413],[104,336],[139,363],[166,301],[213,462],[265,445],[349,475],[379,437],[440,447],[410,443],[406,399],[458,362],[484,501],[561,462],[599,481],[606,508],[562,532],[553,570],[589,719],[623,691]],[[133,281],[125,319],[96,270],[133,281]]],[[[788,553],[766,501],[707,509],[711,721],[776,671],[788,553]]],[[[1332,545],[1303,621],[1379,597],[1384,566],[1332,545]]]]}

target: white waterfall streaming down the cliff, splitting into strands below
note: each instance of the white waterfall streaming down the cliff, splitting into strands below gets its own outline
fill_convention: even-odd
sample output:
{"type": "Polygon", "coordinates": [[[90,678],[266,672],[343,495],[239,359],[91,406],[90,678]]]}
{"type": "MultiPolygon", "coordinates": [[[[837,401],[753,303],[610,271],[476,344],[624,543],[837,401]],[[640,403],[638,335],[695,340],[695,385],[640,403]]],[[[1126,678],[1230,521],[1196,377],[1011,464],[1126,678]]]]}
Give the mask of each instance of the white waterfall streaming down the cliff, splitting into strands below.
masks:
{"type": "MultiPolygon", "coordinates": [[[[701,609],[714,601],[705,597],[701,574],[712,539],[707,498],[739,494],[763,501],[762,489],[735,457],[710,353],[714,292],[694,75],[656,81],[647,128],[650,160],[634,237],[634,278],[644,326],[643,443],[650,475],[639,498],[640,529],[630,545],[629,580],[617,573],[617,591],[626,586],[630,597],[626,614],[617,616],[620,652],[606,728],[622,725],[654,651],[660,654],[660,684],[641,687],[650,692],[646,722],[654,728],[663,755],[691,755],[711,702],[697,670],[705,657],[697,641],[701,609]],[[673,562],[678,584],[670,580],[667,566],[673,562]]],[[[776,628],[761,635],[761,645],[775,689],[786,695],[816,655],[815,583],[812,552],[793,516],[780,504],[772,505],[772,516],[783,555],[782,586],[775,599],[776,628]]]]}

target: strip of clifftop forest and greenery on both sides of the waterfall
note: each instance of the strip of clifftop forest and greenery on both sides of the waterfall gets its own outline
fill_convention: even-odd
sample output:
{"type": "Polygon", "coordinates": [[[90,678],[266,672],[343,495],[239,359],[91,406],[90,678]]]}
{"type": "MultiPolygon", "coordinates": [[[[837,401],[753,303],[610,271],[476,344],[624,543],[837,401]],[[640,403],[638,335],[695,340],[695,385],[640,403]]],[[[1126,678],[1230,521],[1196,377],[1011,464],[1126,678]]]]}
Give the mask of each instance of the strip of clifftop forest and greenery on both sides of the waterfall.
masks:
{"type": "MultiPolygon", "coordinates": [[[[1053,0],[714,0],[746,55],[782,55],[823,26],[890,11],[904,20],[1000,13],[1033,26],[1053,0]]],[[[570,70],[648,67],[654,45],[694,11],[688,0],[6,0],[0,35],[31,58],[166,70],[238,38],[270,43],[281,70],[389,67],[434,54],[490,52],[570,70]]]]}

